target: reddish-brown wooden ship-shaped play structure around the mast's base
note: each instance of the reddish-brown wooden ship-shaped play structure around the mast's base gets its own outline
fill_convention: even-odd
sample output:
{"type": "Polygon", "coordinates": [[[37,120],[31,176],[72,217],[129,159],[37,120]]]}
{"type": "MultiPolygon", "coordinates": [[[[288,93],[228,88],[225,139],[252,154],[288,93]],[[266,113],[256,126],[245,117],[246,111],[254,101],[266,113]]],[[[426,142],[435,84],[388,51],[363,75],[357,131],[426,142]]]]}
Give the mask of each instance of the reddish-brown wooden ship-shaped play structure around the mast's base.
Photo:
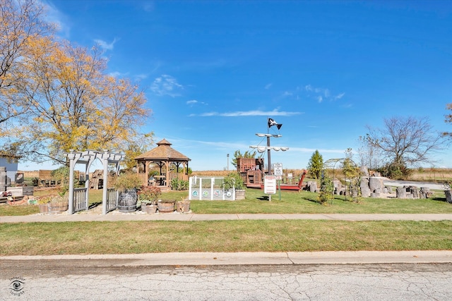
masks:
{"type": "MultiPolygon", "coordinates": [[[[267,174],[263,169],[263,158],[237,158],[237,172],[240,173],[247,188],[263,189],[263,179],[267,174]]],[[[282,190],[302,190],[304,187],[303,180],[307,172],[307,170],[303,171],[297,184],[278,183],[278,188],[282,190]]]]}

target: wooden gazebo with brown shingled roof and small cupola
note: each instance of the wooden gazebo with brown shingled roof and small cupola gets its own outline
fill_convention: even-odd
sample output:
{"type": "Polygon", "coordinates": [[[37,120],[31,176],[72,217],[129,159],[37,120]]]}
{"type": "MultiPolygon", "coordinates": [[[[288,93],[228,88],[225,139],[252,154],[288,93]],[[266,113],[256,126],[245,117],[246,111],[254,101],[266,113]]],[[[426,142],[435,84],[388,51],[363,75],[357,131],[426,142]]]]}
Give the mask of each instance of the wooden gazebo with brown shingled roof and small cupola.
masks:
{"type": "Polygon", "coordinates": [[[157,185],[161,188],[170,188],[171,180],[178,178],[179,180],[189,180],[189,157],[177,152],[171,147],[171,143],[163,139],[157,142],[157,147],[136,156],[138,164],[137,173],[143,180],[143,185],[157,185]],[[149,179],[150,165],[155,164],[160,168],[160,174],[154,176],[153,182],[149,179]],[[171,164],[175,170],[171,170],[171,164]]]}

